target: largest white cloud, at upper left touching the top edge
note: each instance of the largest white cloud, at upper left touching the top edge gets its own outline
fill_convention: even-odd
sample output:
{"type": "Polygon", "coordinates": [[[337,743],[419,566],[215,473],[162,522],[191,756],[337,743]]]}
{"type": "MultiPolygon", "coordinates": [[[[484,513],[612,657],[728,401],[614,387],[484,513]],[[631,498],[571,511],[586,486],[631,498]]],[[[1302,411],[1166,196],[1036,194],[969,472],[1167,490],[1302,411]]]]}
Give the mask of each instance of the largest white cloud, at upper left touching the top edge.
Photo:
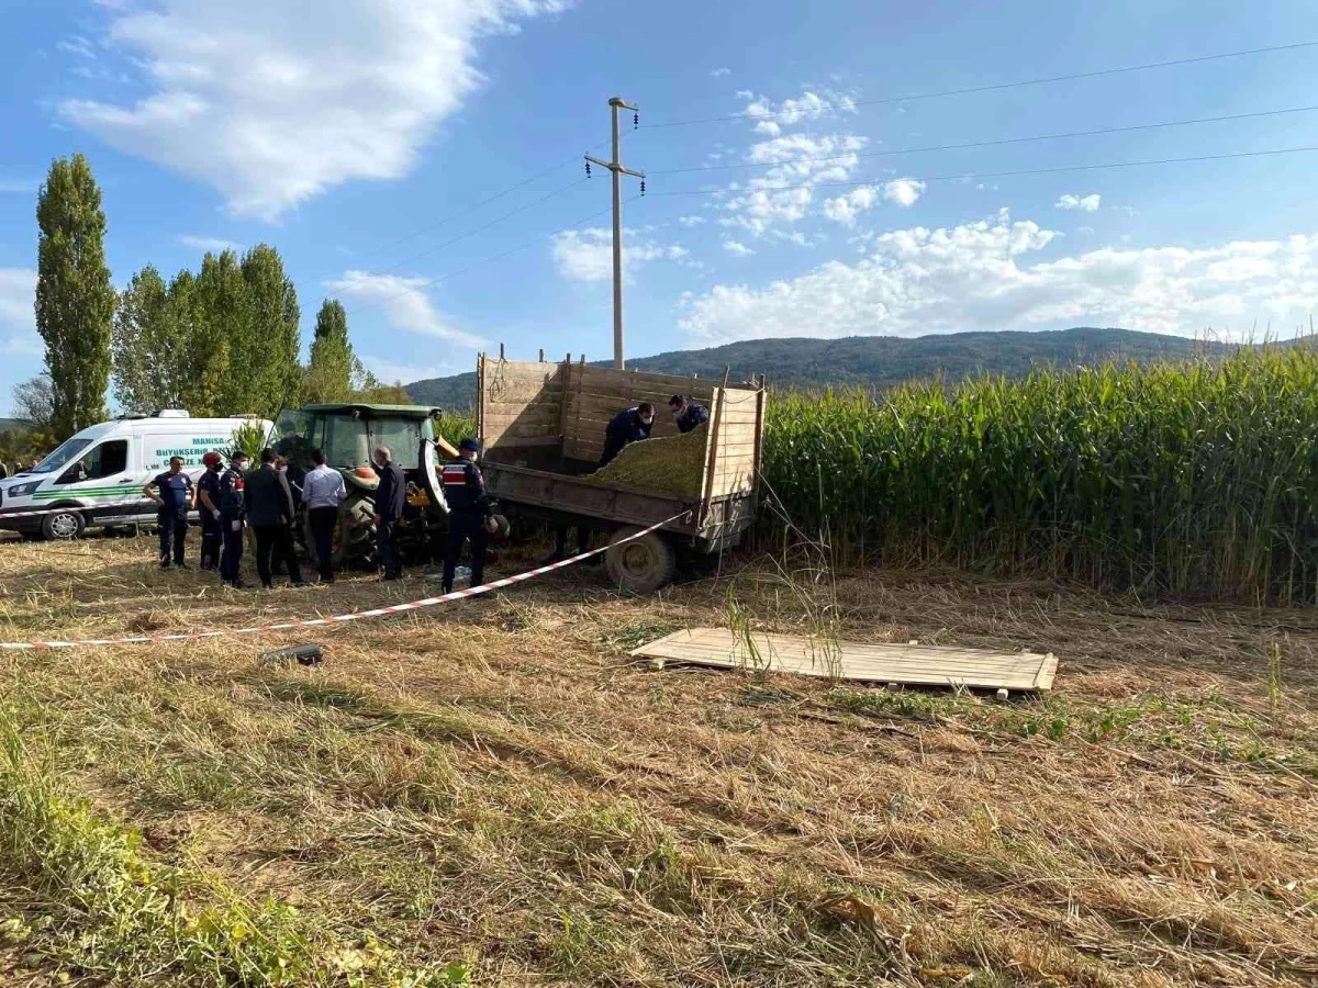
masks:
{"type": "Polygon", "coordinates": [[[407,174],[482,82],[481,36],[568,0],[157,0],[108,5],[105,43],[142,66],[132,105],[66,100],[105,142],[274,219],[353,179],[407,174]]]}

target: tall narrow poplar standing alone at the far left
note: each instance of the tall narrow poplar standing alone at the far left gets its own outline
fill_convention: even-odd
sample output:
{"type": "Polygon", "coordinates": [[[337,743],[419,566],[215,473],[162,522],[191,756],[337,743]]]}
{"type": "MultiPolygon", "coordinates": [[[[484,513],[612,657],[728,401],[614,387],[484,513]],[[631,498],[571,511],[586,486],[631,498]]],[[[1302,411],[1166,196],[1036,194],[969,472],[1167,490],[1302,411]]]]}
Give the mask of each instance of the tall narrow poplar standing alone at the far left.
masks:
{"type": "Polygon", "coordinates": [[[46,341],[51,428],[66,437],[105,418],[115,315],[105,213],[83,155],[51,163],[37,227],[37,331],[46,341]]]}

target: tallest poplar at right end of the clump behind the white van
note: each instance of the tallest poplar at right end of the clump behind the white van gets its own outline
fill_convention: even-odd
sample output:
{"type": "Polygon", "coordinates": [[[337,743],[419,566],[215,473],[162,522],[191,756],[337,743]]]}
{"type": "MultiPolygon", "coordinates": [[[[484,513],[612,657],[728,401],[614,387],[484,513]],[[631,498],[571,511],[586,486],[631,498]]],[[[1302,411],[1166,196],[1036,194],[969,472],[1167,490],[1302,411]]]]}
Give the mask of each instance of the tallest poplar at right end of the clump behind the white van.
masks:
{"type": "Polygon", "coordinates": [[[298,352],[302,333],[298,292],[283,271],[279,252],[258,244],[243,257],[248,292],[245,332],[231,337],[233,378],[241,378],[245,402],[235,411],[273,416],[286,403],[297,403],[302,390],[298,352]],[[241,368],[241,370],[240,370],[241,368]]]}

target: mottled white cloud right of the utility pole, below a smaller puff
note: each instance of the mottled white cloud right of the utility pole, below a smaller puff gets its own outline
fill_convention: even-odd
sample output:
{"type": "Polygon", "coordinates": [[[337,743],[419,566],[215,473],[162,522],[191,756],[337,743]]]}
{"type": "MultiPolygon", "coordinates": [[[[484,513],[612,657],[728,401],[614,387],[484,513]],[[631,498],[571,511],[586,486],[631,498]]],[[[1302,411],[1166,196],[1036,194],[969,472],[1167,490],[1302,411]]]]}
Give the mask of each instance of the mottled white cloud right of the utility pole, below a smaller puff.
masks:
{"type": "Polygon", "coordinates": [[[762,237],[775,225],[800,221],[815,202],[815,186],[845,182],[859,162],[857,151],[865,144],[866,140],[857,134],[788,134],[751,145],[746,161],[772,163],[774,167],[745,186],[729,186],[721,204],[728,213],[724,225],[762,237]]]}

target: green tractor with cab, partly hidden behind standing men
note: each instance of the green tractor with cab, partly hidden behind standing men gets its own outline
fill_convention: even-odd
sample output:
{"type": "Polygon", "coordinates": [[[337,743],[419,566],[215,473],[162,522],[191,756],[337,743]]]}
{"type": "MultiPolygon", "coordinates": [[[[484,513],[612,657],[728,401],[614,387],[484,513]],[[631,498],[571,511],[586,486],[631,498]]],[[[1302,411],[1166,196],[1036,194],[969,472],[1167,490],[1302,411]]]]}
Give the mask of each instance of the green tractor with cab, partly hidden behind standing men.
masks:
{"type": "MultiPolygon", "coordinates": [[[[448,506],[439,486],[436,457],[456,451],[435,432],[440,410],[415,404],[361,404],[355,402],[286,408],[275,422],[274,449],[289,461],[289,480],[302,483],[312,468],[311,451],[322,449],[326,462],[344,476],[348,497],[335,527],[335,565],[369,566],[376,563],[376,487],[380,478],[370,465],[377,447],[389,447],[407,478],[407,502],[399,526],[399,549],[413,557],[428,556],[435,537],[447,528],[448,506]]],[[[306,512],[295,527],[315,560],[306,512]]]]}

